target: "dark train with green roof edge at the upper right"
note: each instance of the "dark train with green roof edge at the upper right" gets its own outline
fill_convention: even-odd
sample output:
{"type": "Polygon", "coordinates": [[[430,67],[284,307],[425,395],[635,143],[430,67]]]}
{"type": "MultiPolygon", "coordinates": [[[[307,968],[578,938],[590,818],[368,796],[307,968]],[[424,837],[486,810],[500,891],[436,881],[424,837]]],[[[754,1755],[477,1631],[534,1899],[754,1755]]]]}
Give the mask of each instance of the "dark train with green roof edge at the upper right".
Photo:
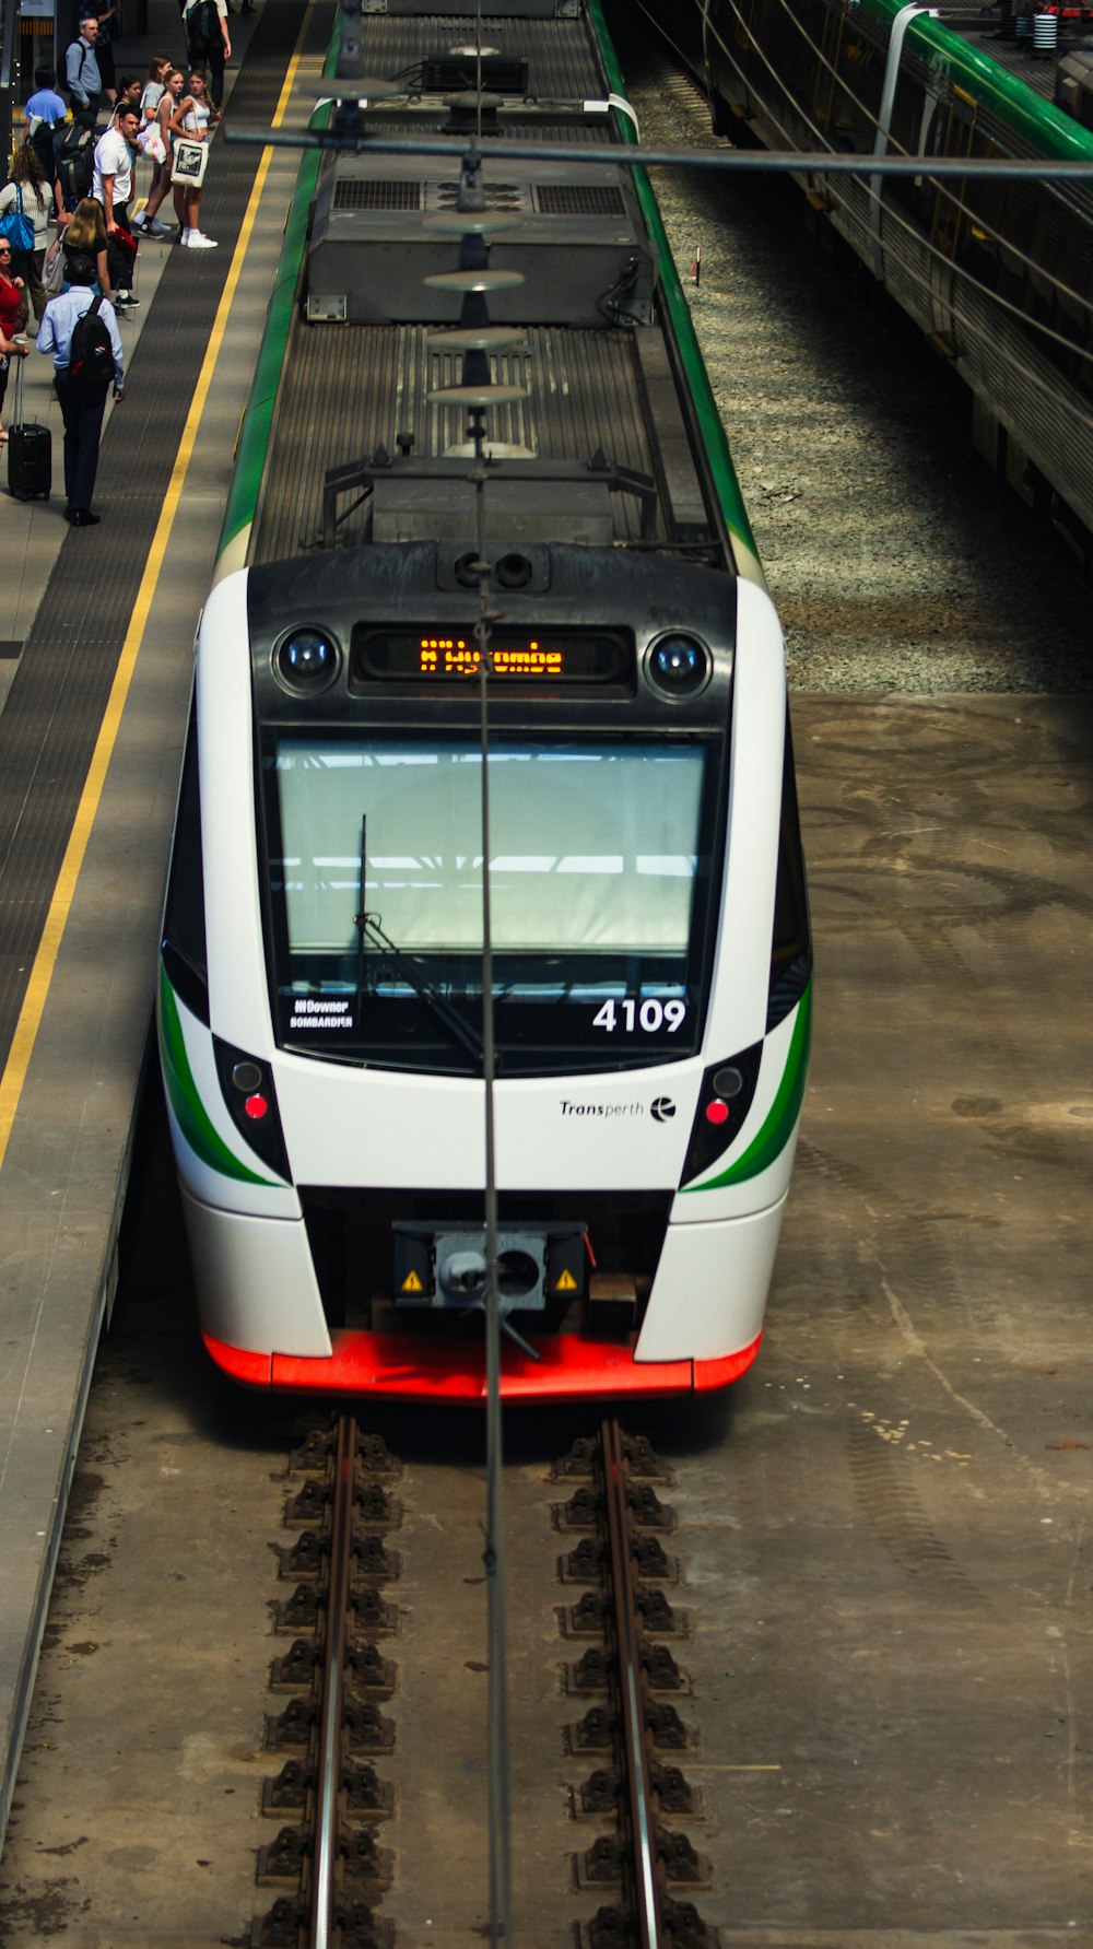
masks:
{"type": "MultiPolygon", "coordinates": [[[[1089,162],[1093,131],[902,0],[639,0],[733,140],[814,154],[1089,162]]],[[[972,440],[1093,561],[1093,181],[801,172],[970,388],[972,440]]]]}

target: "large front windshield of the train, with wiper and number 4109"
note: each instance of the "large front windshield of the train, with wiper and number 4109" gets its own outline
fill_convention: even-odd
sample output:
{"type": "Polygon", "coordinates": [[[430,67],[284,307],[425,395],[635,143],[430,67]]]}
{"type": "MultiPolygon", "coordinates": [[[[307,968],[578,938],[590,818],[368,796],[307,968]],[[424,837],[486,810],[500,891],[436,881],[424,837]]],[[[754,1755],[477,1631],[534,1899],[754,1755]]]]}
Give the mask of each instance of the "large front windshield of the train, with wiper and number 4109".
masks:
{"type": "MultiPolygon", "coordinates": [[[[501,1072],[697,1047],[713,811],[701,741],[499,739],[489,754],[501,1072]]],[[[284,1047],[481,1070],[481,754],[275,735],[265,752],[284,1047]]]]}

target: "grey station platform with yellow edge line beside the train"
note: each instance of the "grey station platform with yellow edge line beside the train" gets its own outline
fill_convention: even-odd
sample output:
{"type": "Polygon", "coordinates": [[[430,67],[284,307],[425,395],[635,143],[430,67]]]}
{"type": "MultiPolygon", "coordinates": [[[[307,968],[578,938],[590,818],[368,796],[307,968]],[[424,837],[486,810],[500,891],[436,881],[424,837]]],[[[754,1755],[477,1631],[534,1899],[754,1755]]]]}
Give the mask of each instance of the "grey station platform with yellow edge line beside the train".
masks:
{"type": "MultiPolygon", "coordinates": [[[[0,491],[0,1836],[29,1709],[117,1238],[146,1062],[162,885],[234,450],[298,154],[224,129],[304,127],[333,10],[259,0],[232,18],[224,125],[201,222],[218,249],[140,248],[121,318],[127,394],[107,407],[95,511],[62,520],[53,361],[25,417],[53,429],[53,497],[0,491]]],[[[117,49],[177,49],[173,0],[117,49]]],[[[136,173],[136,201],[150,166],[136,173]]],[[[170,209],[164,209],[164,216],[170,209]]],[[[12,415],[8,390],[8,423],[12,415]]]]}

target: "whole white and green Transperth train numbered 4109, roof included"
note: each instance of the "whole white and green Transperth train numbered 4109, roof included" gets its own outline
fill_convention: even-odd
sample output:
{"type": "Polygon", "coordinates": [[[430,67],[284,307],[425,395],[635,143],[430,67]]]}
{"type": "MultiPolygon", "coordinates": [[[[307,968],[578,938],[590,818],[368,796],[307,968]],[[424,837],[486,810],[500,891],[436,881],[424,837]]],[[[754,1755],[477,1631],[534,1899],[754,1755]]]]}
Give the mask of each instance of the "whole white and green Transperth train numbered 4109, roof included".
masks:
{"type": "Polygon", "coordinates": [[[394,150],[304,156],[197,633],[199,1325],[244,1386],[485,1399],[487,879],[501,1394],[707,1394],[809,1068],[785,647],[598,0],[483,14],[360,19],[394,150]]]}

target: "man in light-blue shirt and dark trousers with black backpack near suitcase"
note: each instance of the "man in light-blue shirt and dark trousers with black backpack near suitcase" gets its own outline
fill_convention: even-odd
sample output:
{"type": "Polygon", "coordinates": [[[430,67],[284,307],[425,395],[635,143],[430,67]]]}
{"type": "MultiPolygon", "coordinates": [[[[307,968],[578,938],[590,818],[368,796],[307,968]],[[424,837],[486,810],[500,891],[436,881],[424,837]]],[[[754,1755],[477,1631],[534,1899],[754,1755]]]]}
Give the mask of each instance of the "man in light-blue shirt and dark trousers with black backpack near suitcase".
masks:
{"type": "Polygon", "coordinates": [[[107,392],[125,400],[125,361],[113,304],[92,298],[95,265],[72,257],[68,290],[51,298],[37,335],[39,353],[53,353],[53,384],[64,421],[64,520],[72,528],[97,528],[92,513],[99,437],[107,392]]]}

